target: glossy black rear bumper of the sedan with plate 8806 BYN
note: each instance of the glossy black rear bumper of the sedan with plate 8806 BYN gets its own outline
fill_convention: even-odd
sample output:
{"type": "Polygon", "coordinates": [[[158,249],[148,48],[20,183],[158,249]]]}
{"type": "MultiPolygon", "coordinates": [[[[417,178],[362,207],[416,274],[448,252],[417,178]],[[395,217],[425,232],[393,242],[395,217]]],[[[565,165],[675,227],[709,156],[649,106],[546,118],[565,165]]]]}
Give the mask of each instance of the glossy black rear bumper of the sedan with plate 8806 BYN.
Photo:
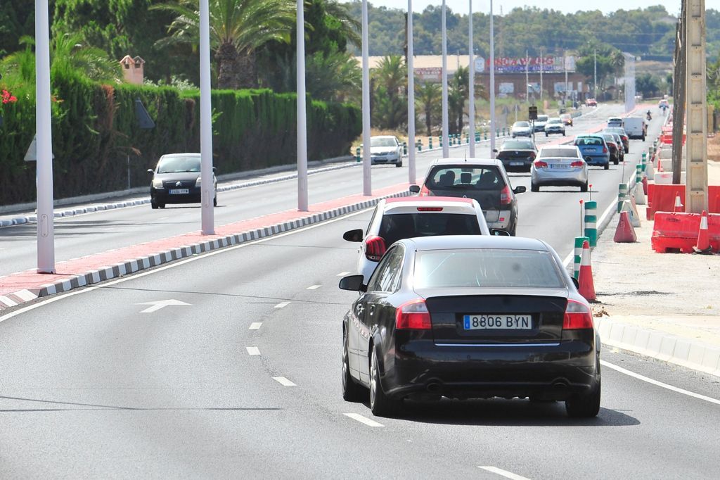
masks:
{"type": "Polygon", "coordinates": [[[599,381],[593,342],[478,347],[413,342],[396,350],[382,376],[395,398],[434,394],[450,398],[537,396],[564,400],[599,381]]]}

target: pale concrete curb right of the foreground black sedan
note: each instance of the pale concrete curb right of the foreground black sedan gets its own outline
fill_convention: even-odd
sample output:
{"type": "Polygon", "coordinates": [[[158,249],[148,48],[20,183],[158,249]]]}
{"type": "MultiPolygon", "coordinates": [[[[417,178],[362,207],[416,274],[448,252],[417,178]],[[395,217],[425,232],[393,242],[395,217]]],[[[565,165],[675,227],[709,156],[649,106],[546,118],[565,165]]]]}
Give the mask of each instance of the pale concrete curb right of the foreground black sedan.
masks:
{"type": "Polygon", "coordinates": [[[720,347],[610,318],[597,321],[603,345],[720,377],[720,347]]]}

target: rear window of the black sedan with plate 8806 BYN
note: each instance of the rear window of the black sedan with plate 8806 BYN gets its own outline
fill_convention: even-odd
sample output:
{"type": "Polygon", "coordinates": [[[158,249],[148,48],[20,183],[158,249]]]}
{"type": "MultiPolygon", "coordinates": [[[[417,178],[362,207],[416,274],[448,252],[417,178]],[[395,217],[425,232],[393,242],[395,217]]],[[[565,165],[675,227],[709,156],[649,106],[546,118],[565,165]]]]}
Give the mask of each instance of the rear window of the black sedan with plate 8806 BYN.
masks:
{"type": "Polygon", "coordinates": [[[428,250],[415,254],[415,288],[566,288],[549,252],[428,250]]]}

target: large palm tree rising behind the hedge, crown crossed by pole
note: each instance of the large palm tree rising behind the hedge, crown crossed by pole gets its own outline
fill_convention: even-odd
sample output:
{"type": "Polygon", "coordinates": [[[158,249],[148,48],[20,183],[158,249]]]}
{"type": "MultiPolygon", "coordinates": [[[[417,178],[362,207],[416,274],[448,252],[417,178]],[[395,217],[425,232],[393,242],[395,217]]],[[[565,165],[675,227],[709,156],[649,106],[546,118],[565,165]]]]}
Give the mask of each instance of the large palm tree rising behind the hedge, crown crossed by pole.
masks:
{"type": "MultiPolygon", "coordinates": [[[[289,42],[295,24],[292,0],[209,0],[210,45],[217,60],[220,89],[258,86],[255,52],[271,40],[289,42]]],[[[177,17],[168,28],[171,36],[159,43],[198,43],[197,0],[177,0],[153,9],[169,10],[177,17]]]]}

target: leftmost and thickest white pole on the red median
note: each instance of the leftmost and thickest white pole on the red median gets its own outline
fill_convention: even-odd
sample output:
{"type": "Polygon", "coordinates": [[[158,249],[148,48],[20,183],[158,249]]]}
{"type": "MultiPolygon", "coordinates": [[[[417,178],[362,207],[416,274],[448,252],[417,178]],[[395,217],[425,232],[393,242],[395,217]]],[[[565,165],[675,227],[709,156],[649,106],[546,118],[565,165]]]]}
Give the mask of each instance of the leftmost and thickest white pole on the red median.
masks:
{"type": "Polygon", "coordinates": [[[50,114],[48,0],[35,0],[35,129],[37,130],[37,272],[55,273],[53,130],[50,114]]]}

